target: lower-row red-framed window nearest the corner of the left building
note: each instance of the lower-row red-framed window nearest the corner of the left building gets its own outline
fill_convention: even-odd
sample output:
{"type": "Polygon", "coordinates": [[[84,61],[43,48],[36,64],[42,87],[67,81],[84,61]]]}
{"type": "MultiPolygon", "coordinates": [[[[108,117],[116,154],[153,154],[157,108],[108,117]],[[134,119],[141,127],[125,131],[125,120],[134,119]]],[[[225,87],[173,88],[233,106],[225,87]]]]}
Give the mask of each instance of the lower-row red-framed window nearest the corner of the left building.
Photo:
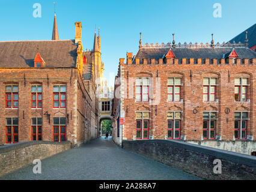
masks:
{"type": "Polygon", "coordinates": [[[66,118],[53,118],[53,142],[66,141],[66,118]]]}

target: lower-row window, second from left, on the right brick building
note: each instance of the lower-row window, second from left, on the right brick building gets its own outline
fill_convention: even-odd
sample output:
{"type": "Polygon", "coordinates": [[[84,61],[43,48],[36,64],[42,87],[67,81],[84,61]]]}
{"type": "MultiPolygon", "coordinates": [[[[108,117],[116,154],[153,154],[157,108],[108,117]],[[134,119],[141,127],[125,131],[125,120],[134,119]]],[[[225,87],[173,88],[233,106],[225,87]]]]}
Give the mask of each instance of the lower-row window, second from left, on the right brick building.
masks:
{"type": "Polygon", "coordinates": [[[167,139],[180,139],[181,112],[167,112],[167,139]]]}

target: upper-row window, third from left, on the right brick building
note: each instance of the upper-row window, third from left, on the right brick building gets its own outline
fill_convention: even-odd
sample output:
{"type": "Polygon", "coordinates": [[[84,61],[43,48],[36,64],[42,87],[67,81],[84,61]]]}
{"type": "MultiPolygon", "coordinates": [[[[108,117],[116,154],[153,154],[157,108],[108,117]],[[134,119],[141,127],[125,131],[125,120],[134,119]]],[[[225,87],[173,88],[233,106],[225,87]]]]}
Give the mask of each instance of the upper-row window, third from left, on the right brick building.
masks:
{"type": "Polygon", "coordinates": [[[204,77],[203,79],[203,100],[216,101],[217,78],[204,77]]]}

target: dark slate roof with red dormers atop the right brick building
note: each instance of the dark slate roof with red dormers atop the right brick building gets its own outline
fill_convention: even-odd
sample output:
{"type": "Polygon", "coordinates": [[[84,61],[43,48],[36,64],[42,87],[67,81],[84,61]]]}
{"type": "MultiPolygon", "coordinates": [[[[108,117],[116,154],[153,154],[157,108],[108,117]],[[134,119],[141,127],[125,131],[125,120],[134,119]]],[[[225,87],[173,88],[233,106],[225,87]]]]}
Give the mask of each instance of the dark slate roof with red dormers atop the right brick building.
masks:
{"type": "MultiPolygon", "coordinates": [[[[153,46],[152,46],[153,47],[153,46]]],[[[172,48],[172,52],[175,55],[175,58],[182,59],[182,58],[225,58],[227,53],[230,53],[233,47],[216,47],[216,48],[172,48]]],[[[234,48],[239,58],[256,58],[256,53],[251,49],[245,47],[235,47],[234,48]]],[[[168,53],[169,47],[143,47],[139,49],[138,53],[136,54],[135,58],[143,59],[143,58],[164,58],[166,53],[168,53]]],[[[134,61],[134,60],[133,60],[134,61]]]]}

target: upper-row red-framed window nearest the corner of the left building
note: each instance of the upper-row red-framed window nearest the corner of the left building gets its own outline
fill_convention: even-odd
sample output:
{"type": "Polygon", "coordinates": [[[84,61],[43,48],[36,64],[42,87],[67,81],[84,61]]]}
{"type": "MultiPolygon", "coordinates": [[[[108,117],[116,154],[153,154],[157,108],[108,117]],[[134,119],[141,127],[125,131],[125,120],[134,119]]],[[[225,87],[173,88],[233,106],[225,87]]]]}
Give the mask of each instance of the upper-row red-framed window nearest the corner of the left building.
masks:
{"type": "Polygon", "coordinates": [[[66,108],[66,86],[53,86],[53,108],[66,108]]]}

